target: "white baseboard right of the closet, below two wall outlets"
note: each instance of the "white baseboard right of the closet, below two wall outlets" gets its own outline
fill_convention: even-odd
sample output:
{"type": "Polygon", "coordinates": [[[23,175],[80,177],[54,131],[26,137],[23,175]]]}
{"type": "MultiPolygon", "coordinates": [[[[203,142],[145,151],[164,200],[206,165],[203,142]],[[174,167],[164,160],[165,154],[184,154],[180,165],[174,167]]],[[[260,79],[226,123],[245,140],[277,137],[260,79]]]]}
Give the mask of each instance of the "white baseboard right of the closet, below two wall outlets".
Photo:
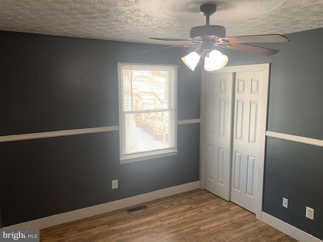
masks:
{"type": "Polygon", "coordinates": [[[283,233],[286,233],[287,235],[297,239],[300,242],[323,242],[319,238],[316,238],[313,235],[306,233],[303,230],[300,230],[299,228],[296,228],[288,223],[285,223],[284,221],[275,218],[265,212],[262,212],[261,214],[261,221],[268,225],[271,225],[272,227],[282,231],[283,233]]]}

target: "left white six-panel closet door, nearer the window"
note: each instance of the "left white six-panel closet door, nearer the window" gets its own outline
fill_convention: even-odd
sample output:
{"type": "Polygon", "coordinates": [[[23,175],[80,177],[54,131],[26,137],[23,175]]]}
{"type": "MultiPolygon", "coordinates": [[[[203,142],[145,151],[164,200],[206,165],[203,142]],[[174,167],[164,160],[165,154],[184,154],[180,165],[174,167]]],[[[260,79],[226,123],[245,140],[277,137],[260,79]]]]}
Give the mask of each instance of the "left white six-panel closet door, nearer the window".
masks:
{"type": "Polygon", "coordinates": [[[205,74],[204,189],[230,199],[232,73],[205,74]]]}

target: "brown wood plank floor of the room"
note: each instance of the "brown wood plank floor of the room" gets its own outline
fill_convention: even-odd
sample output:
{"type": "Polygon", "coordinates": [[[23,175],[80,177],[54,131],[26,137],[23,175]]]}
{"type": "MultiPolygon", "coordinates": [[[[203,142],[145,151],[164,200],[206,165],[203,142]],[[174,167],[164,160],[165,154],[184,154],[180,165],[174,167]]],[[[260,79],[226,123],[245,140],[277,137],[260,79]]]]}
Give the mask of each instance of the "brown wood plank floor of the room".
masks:
{"type": "Polygon", "coordinates": [[[40,241],[297,241],[205,190],[144,205],[148,208],[131,213],[122,209],[41,229],[40,241]]]}

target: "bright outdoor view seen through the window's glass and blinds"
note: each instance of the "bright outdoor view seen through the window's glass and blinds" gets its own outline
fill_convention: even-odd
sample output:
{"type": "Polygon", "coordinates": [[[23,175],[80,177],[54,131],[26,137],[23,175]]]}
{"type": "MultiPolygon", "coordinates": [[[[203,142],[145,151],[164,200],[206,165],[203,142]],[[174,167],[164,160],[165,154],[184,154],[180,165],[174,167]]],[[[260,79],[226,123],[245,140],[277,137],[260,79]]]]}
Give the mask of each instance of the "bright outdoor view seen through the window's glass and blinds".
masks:
{"type": "Polygon", "coordinates": [[[169,71],[123,70],[125,153],[170,146],[169,71]]]}

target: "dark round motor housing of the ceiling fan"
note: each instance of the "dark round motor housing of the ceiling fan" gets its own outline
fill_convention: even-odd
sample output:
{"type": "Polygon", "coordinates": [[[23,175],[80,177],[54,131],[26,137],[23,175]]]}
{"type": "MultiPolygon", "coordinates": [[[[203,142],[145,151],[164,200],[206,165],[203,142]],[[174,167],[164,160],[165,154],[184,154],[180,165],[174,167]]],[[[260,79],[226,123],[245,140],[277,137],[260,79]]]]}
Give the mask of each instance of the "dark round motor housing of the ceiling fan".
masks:
{"type": "Polygon", "coordinates": [[[226,28],[221,25],[203,25],[191,28],[191,40],[219,39],[226,37],[226,28]]]}

